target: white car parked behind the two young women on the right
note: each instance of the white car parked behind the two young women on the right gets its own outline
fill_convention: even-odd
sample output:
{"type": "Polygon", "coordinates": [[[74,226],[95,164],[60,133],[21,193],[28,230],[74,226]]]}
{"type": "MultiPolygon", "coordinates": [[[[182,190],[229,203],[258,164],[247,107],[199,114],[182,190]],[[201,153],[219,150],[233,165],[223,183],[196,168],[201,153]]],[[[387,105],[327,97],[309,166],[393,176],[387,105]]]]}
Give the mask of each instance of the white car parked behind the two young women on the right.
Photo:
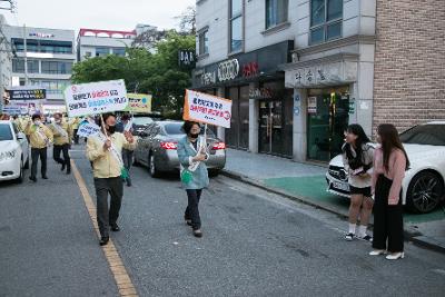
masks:
{"type": "MultiPolygon", "coordinates": [[[[419,125],[400,133],[411,161],[402,184],[402,199],[414,212],[429,212],[445,198],[445,121],[419,125]]],[[[327,191],[349,197],[342,156],[329,162],[327,191]]]]}

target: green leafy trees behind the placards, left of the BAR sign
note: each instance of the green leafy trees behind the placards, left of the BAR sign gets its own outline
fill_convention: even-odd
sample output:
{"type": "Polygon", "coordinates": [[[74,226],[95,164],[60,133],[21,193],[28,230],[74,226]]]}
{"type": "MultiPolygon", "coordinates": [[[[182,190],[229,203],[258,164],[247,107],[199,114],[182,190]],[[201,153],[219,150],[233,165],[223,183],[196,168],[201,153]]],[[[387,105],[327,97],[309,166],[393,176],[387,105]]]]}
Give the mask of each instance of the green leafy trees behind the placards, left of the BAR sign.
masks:
{"type": "Polygon", "coordinates": [[[191,85],[191,70],[178,65],[180,49],[195,49],[195,36],[169,31],[155,46],[155,53],[127,48],[126,57],[95,57],[73,67],[75,83],[123,79],[129,92],[151,93],[154,110],[180,118],[185,89],[191,85]]]}

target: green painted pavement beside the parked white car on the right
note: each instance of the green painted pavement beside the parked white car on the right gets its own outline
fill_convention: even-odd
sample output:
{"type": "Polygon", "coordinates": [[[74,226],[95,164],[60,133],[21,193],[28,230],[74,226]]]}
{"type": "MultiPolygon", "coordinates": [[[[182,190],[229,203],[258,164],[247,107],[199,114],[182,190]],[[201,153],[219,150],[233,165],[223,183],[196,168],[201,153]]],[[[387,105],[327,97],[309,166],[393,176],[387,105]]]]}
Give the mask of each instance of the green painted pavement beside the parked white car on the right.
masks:
{"type": "MultiPolygon", "coordinates": [[[[314,201],[327,204],[340,208],[344,211],[347,211],[349,207],[349,200],[347,198],[326,191],[327,185],[325,176],[268,178],[263,180],[263,182],[268,187],[285,190],[290,195],[304,197],[314,201]]],[[[445,219],[445,211],[443,208],[438,208],[426,215],[405,212],[404,219],[406,222],[411,224],[441,220],[445,219]]]]}

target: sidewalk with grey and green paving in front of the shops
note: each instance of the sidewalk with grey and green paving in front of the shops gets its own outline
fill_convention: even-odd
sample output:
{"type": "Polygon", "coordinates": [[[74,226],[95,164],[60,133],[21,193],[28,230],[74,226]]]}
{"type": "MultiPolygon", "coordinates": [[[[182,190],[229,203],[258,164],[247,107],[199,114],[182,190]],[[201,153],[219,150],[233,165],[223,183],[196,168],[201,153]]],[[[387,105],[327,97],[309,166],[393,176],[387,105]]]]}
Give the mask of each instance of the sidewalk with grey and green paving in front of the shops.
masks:
{"type": "MultiPolygon", "coordinates": [[[[347,218],[349,200],[326,191],[326,170],[323,165],[227,149],[224,175],[347,218]]],[[[404,220],[412,241],[445,253],[445,209],[406,212],[404,220]]]]}

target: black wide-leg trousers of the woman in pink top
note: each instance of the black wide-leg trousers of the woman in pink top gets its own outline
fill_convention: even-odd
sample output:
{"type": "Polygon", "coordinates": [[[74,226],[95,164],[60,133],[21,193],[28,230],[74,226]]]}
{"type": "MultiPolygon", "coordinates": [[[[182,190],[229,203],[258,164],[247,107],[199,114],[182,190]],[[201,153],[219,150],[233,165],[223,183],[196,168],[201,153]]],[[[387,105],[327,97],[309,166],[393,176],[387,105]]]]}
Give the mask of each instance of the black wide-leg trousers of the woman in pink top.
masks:
{"type": "Polygon", "coordinates": [[[403,206],[402,198],[397,205],[388,205],[393,180],[384,175],[378,176],[375,188],[373,248],[399,253],[404,250],[403,206]]]}

